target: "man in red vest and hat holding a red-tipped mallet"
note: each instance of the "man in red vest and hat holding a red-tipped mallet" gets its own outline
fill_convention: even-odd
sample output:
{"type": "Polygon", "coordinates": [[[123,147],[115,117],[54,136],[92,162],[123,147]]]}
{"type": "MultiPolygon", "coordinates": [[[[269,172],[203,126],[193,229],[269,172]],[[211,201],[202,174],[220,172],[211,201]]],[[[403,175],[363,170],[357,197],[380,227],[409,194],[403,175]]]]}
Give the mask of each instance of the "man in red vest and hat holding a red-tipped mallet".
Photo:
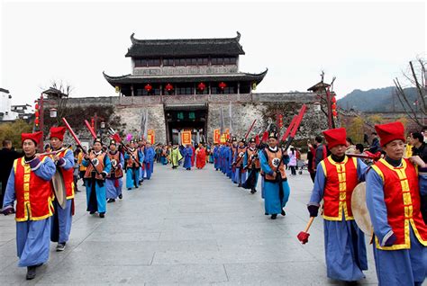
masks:
{"type": "Polygon", "coordinates": [[[345,155],[346,131],[343,128],[323,132],[331,156],[317,165],[314,187],[307,208],[317,217],[323,200],[324,248],[327,276],[344,282],[357,282],[368,270],[365,235],[352,216],[351,194],[365,181],[368,166],[359,158],[345,155]]]}

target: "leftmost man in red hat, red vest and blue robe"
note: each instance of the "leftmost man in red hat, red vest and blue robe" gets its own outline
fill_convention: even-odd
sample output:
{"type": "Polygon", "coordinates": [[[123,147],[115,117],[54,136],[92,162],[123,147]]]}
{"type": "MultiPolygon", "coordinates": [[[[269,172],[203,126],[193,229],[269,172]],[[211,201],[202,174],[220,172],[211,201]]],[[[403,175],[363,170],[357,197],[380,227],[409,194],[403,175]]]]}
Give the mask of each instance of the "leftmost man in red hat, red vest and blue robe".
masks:
{"type": "Polygon", "coordinates": [[[27,267],[27,280],[49,259],[50,217],[53,214],[50,180],[56,166],[48,156],[36,156],[42,132],[23,133],[24,156],[14,160],[6,185],[3,213],[14,213],[16,201],[16,248],[18,266],[27,267]]]}

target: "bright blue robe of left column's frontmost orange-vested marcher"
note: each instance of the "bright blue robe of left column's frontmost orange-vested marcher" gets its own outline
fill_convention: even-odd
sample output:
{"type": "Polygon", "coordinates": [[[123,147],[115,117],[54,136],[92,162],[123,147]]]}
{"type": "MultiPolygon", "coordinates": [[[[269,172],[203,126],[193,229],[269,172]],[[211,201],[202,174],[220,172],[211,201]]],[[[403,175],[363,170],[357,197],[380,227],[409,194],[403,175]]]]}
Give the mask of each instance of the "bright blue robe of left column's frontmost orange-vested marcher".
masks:
{"type": "MultiPolygon", "coordinates": [[[[88,166],[90,163],[83,159],[82,165],[88,166]]],[[[110,158],[104,156],[104,171],[103,173],[109,174],[111,171],[111,161],[110,158]]],[[[94,179],[86,179],[86,202],[87,202],[87,211],[97,211],[98,213],[105,213],[106,211],[106,191],[105,191],[105,182],[95,182],[94,179]],[[92,183],[95,183],[95,196],[96,205],[91,205],[91,193],[92,193],[92,183]]]]}

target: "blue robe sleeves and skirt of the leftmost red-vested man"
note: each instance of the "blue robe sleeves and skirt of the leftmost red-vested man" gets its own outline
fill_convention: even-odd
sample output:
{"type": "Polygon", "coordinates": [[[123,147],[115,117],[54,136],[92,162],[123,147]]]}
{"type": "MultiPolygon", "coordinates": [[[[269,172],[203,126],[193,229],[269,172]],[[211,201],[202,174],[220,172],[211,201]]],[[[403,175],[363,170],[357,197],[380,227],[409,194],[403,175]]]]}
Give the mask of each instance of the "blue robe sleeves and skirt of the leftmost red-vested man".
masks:
{"type": "MultiPolygon", "coordinates": [[[[33,174],[45,181],[51,180],[55,172],[56,166],[50,158],[46,158],[37,169],[32,170],[33,174]]],[[[14,206],[15,200],[14,168],[12,168],[6,185],[4,207],[14,206]]],[[[27,267],[46,263],[49,259],[49,247],[50,218],[16,222],[18,266],[27,267]]]]}

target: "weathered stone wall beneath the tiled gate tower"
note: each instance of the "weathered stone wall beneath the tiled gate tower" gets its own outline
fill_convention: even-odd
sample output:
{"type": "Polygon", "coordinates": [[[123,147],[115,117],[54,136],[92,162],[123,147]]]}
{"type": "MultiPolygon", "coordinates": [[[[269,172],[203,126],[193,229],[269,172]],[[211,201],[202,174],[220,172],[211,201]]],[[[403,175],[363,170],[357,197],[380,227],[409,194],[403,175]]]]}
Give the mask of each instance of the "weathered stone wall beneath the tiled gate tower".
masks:
{"type": "MultiPolygon", "coordinates": [[[[141,117],[149,110],[149,129],[156,132],[156,142],[166,142],[166,126],[164,105],[168,103],[207,103],[208,123],[207,139],[213,140],[213,130],[220,128],[220,109],[223,108],[224,129],[230,126],[230,103],[232,103],[232,132],[238,137],[244,137],[252,121],[257,120],[250,134],[261,132],[268,127],[269,122],[276,123],[277,112],[284,115],[286,130],[293,116],[302,104],[307,104],[307,112],[302,121],[300,131],[295,139],[313,139],[327,129],[326,116],[315,112],[313,103],[317,101],[312,93],[271,93],[271,94],[196,94],[196,95],[163,95],[163,96],[128,96],[128,97],[86,97],[69,98],[68,106],[78,106],[83,110],[86,106],[98,104],[113,105],[114,114],[122,119],[124,134],[139,135],[141,117]]],[[[84,113],[84,111],[83,111],[84,113]]],[[[85,114],[89,118],[90,114],[85,114]]],[[[82,119],[83,120],[83,119],[82,119]]]]}

